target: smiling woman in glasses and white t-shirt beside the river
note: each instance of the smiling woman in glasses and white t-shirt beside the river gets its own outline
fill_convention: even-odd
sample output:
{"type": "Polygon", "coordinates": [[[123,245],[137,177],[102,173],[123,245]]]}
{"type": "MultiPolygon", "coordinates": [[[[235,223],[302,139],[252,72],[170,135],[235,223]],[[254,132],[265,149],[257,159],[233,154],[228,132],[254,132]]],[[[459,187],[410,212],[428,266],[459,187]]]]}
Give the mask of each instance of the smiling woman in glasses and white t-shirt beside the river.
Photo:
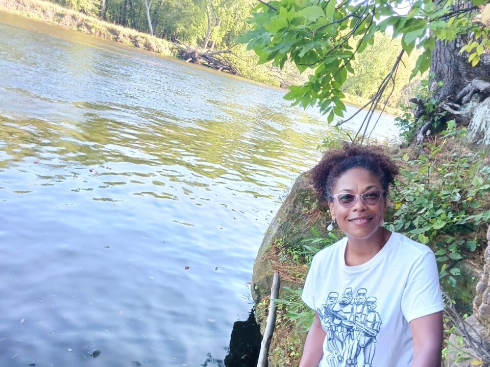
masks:
{"type": "Polygon", "coordinates": [[[315,317],[300,367],[440,366],[444,305],[434,254],[383,228],[397,174],[379,150],[354,145],[329,150],[311,171],[347,237],[312,260],[302,298],[315,317]]]}

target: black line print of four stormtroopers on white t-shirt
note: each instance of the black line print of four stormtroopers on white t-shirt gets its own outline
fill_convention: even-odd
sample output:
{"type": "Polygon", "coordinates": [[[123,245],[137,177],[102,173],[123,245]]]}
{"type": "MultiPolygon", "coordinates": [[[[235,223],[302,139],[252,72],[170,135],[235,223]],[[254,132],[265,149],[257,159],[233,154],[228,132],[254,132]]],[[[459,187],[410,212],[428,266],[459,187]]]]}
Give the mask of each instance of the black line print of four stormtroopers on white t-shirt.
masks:
{"type": "Polygon", "coordinates": [[[372,362],[381,327],[376,300],[365,288],[356,290],[354,296],[348,287],[340,296],[330,292],[325,304],[317,309],[327,333],[330,367],[376,367],[372,362]]]}

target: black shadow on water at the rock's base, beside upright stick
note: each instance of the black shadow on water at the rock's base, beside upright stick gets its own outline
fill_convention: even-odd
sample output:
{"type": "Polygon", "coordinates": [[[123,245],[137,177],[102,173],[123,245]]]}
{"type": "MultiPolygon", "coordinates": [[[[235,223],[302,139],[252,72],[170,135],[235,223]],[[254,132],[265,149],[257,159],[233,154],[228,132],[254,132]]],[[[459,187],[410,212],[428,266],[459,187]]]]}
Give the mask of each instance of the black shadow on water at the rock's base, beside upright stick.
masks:
{"type": "Polygon", "coordinates": [[[207,359],[201,364],[203,367],[256,367],[259,359],[260,326],[255,321],[254,309],[250,311],[247,321],[237,321],[233,324],[230,338],[230,348],[225,360],[215,359],[210,353],[207,359]]]}

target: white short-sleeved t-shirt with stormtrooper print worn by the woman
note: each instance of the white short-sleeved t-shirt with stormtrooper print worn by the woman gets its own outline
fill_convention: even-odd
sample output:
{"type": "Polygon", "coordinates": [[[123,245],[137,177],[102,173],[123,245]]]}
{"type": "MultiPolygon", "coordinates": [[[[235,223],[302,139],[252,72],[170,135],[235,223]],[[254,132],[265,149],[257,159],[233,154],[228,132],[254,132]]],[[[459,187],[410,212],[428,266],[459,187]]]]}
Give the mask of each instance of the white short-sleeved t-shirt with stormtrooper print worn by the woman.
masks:
{"type": "Polygon", "coordinates": [[[444,308],[433,252],[393,232],[371,260],[349,267],[346,245],[313,257],[303,289],[327,333],[319,367],[409,367],[408,323],[444,308]]]}

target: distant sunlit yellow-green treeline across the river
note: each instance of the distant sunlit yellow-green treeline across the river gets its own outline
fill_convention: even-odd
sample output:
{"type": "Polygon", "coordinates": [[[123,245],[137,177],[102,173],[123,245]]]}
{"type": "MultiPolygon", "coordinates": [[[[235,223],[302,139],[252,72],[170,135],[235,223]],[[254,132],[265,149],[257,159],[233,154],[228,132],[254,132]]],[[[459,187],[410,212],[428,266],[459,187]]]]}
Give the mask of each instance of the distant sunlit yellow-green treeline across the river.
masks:
{"type": "MultiPolygon", "coordinates": [[[[303,84],[309,70],[301,75],[293,65],[282,70],[271,64],[260,64],[252,50],[237,44],[238,35],[250,25],[246,19],[258,4],[257,0],[54,0],[69,9],[150,33],[170,41],[176,39],[193,47],[219,50],[231,49],[227,57],[243,76],[269,85],[287,87],[303,84]]],[[[342,88],[352,96],[370,98],[380,81],[394,64],[401,46],[399,41],[379,34],[374,43],[356,56],[353,63],[355,75],[348,78],[342,88]]],[[[418,80],[409,81],[410,70],[418,55],[404,60],[389,105],[406,104],[414,95],[418,80]]]]}

